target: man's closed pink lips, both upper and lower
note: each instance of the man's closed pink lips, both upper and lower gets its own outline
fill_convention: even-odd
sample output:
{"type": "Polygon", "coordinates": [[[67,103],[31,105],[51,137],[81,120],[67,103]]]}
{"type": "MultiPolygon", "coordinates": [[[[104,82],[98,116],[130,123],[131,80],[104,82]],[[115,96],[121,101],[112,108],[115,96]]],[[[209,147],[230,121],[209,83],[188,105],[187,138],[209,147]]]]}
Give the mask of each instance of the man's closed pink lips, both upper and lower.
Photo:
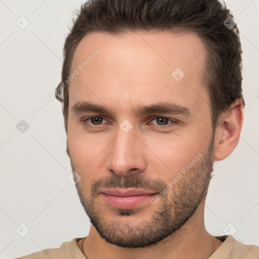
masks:
{"type": "Polygon", "coordinates": [[[104,200],[117,208],[134,208],[150,199],[157,193],[141,189],[107,189],[101,192],[104,200]]]}

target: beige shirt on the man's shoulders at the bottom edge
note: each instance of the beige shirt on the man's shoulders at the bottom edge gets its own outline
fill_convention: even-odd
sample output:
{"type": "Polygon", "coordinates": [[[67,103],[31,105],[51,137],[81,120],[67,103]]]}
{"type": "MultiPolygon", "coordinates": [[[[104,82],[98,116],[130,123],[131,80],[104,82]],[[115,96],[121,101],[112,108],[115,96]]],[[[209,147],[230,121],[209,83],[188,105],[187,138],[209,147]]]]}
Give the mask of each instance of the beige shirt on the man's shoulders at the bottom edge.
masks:
{"type": "MultiPolygon", "coordinates": [[[[259,246],[243,244],[232,236],[221,236],[224,241],[207,259],[258,259],[259,246]]],[[[86,259],[77,245],[80,238],[64,242],[59,248],[44,249],[16,259],[86,259]]],[[[87,252],[87,251],[85,251],[87,252]]]]}

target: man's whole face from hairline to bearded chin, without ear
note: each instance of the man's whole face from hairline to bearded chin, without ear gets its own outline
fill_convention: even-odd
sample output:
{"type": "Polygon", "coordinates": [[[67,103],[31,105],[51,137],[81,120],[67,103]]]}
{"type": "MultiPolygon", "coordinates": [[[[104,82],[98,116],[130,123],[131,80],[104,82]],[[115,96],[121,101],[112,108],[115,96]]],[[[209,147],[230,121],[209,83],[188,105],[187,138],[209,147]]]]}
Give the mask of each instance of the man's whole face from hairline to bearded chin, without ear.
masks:
{"type": "Polygon", "coordinates": [[[107,242],[154,244],[180,229],[205,197],[214,139],[204,61],[194,33],[95,32],[79,42],[68,150],[80,201],[107,242]],[[122,192],[108,193],[115,189],[122,192]],[[123,192],[134,189],[148,194],[123,192]]]}

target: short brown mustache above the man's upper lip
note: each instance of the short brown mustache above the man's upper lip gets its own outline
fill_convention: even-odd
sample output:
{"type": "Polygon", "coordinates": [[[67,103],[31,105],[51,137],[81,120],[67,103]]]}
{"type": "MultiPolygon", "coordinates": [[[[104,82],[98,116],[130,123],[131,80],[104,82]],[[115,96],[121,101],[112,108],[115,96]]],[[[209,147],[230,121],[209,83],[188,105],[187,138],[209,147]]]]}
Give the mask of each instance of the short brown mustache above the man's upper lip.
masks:
{"type": "Polygon", "coordinates": [[[92,196],[96,196],[101,188],[136,188],[154,192],[164,189],[166,183],[161,179],[152,179],[139,174],[118,176],[113,174],[109,178],[98,179],[92,186],[92,196]]]}

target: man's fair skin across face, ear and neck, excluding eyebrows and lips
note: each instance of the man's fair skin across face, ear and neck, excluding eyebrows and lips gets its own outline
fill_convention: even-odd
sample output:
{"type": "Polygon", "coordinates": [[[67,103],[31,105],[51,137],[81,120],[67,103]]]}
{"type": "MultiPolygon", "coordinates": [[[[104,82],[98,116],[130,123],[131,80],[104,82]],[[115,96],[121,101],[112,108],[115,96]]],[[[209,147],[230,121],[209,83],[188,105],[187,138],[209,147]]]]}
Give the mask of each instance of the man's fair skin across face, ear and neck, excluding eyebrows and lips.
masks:
{"type": "Polygon", "coordinates": [[[222,244],[204,226],[208,183],[213,162],[228,157],[238,144],[243,122],[242,101],[237,99],[221,115],[213,136],[209,96],[201,77],[205,73],[207,54],[203,51],[203,42],[194,33],[139,31],[111,37],[107,33],[94,32],[79,42],[71,71],[96,49],[100,50],[100,54],[83,68],[69,86],[67,153],[72,170],[81,177],[76,187],[85,211],[91,212],[92,218],[99,219],[99,227],[113,230],[118,240],[124,240],[125,243],[124,247],[112,244],[108,231],[105,232],[107,236],[101,237],[91,225],[83,244],[82,239],[78,242],[80,250],[84,250],[88,258],[102,259],[122,256],[142,259],[208,258],[222,244]],[[185,73],[179,82],[171,76],[177,67],[185,73]],[[112,114],[75,113],[72,107],[80,101],[104,105],[112,110],[112,114]],[[138,105],[160,101],[188,107],[191,114],[186,117],[183,114],[136,116],[132,113],[132,108],[138,105]],[[82,119],[93,116],[105,119],[101,125],[94,125],[91,120],[87,122],[89,126],[82,123],[82,119]],[[162,123],[158,124],[159,121],[155,119],[159,116],[168,118],[165,124],[170,126],[159,128],[158,125],[162,123]],[[119,127],[125,119],[133,125],[128,133],[119,127]],[[170,119],[180,123],[175,124],[170,119]],[[117,179],[113,184],[122,184],[124,187],[126,180],[127,184],[133,184],[132,179],[143,179],[139,181],[142,189],[148,190],[149,187],[158,191],[158,187],[162,187],[158,183],[168,185],[199,153],[204,154],[203,158],[165,197],[155,205],[145,202],[137,209],[128,210],[127,215],[121,215],[122,210],[107,204],[92,188],[95,186],[100,190],[98,187],[108,187],[107,179],[117,179]],[[97,181],[100,185],[97,185],[97,181]],[[189,190],[184,191],[186,187],[189,190]],[[179,199],[177,194],[180,194],[179,199]],[[194,208],[192,215],[191,209],[186,209],[181,203],[188,200],[189,207],[194,208]],[[177,205],[180,209],[177,209],[177,205]],[[134,230],[144,231],[141,227],[147,222],[151,223],[156,212],[163,208],[167,208],[167,220],[175,221],[168,222],[167,226],[162,214],[156,226],[146,226],[154,228],[153,236],[161,233],[161,229],[156,229],[159,224],[166,225],[165,229],[172,232],[145,247],[126,247],[134,230]],[[185,215],[178,215],[179,211],[184,211],[185,215]],[[121,231],[124,231],[123,234],[121,231]]]}

